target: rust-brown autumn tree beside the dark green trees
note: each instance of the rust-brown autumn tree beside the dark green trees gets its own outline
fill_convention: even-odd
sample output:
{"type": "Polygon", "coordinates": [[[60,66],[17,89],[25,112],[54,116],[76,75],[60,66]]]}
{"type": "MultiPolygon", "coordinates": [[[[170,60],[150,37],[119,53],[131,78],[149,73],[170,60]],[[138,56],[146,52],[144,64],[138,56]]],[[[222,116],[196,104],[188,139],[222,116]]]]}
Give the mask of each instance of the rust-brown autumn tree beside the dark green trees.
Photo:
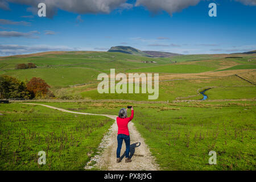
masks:
{"type": "Polygon", "coordinates": [[[49,93],[49,86],[42,78],[33,77],[27,83],[27,90],[34,94],[36,98],[45,98],[47,93],[49,93]]]}

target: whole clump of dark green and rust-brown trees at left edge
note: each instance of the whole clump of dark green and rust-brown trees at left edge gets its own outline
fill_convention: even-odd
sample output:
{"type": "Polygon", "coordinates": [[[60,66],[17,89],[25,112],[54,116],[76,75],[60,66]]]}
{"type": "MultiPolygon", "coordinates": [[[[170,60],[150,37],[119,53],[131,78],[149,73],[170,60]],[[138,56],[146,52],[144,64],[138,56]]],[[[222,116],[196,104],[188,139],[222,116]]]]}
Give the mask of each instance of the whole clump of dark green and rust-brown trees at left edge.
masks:
{"type": "Polygon", "coordinates": [[[49,88],[51,86],[42,78],[33,77],[30,81],[23,82],[11,76],[0,76],[0,99],[54,97],[49,88]]]}

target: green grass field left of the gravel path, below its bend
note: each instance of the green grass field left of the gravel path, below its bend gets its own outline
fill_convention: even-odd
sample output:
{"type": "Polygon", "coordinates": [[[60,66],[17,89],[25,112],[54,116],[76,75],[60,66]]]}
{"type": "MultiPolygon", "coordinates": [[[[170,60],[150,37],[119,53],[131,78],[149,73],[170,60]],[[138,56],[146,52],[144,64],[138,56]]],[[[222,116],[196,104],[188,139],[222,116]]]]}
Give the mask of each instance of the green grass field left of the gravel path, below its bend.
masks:
{"type": "Polygon", "coordinates": [[[0,170],[83,170],[113,123],[23,104],[1,104],[0,113],[0,170]],[[39,151],[46,165],[38,165],[39,151]]]}

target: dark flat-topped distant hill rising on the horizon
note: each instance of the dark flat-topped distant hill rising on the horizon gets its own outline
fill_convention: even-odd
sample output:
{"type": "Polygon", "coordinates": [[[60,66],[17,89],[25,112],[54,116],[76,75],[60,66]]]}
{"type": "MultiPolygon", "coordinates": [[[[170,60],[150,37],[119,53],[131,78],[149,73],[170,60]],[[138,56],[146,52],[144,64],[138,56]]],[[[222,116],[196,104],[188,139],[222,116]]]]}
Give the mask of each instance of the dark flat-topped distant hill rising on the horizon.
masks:
{"type": "Polygon", "coordinates": [[[146,57],[171,57],[179,55],[178,53],[160,52],[160,51],[141,51],[130,46],[115,46],[111,47],[108,52],[122,52],[130,55],[146,56],[146,57]]]}

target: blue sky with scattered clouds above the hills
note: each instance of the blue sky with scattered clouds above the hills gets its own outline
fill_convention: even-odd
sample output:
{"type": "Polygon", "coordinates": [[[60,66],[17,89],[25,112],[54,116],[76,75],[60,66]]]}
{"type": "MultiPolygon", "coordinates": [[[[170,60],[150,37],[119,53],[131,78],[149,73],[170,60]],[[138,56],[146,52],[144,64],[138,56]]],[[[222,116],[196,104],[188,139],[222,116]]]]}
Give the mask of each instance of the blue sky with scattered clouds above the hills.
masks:
{"type": "Polygon", "coordinates": [[[73,7],[46,1],[48,17],[40,18],[36,1],[0,0],[0,56],[112,46],[182,54],[256,49],[255,0],[105,0],[98,6],[102,1],[81,0],[73,7]],[[208,15],[211,2],[217,17],[208,15]]]}

